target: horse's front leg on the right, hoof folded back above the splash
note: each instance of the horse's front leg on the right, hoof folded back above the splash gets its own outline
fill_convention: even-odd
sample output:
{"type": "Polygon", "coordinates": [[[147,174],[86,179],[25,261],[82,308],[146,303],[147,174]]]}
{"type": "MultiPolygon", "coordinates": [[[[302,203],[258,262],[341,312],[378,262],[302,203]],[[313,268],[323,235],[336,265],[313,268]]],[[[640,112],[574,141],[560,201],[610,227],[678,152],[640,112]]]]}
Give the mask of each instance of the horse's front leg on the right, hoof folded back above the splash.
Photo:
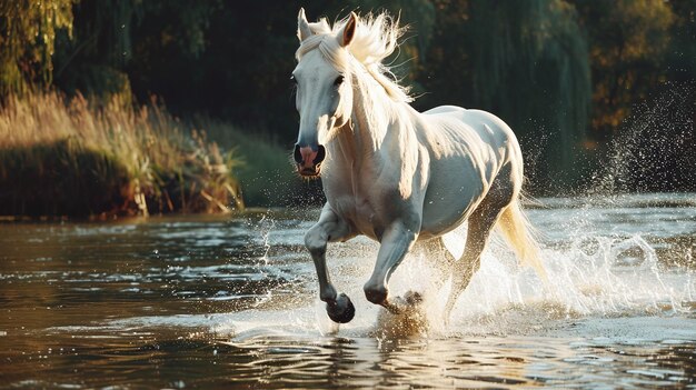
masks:
{"type": "Polygon", "coordinates": [[[406,309],[407,302],[400,299],[389,299],[387,283],[391,273],[404,260],[404,257],[411,249],[417,238],[416,229],[409,229],[401,223],[395,223],[385,231],[377,254],[375,270],[364,287],[368,301],[381,304],[392,313],[400,313],[406,309]]]}

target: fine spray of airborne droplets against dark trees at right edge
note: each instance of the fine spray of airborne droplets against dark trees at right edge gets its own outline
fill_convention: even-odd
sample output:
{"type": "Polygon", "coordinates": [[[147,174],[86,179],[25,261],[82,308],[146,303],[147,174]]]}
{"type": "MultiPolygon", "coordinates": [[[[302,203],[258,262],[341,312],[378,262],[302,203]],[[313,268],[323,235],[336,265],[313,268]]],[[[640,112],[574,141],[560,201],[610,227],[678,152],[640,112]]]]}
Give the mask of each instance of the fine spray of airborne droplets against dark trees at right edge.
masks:
{"type": "Polygon", "coordinates": [[[593,176],[588,194],[696,190],[695,83],[667,83],[633,108],[593,176]]]}

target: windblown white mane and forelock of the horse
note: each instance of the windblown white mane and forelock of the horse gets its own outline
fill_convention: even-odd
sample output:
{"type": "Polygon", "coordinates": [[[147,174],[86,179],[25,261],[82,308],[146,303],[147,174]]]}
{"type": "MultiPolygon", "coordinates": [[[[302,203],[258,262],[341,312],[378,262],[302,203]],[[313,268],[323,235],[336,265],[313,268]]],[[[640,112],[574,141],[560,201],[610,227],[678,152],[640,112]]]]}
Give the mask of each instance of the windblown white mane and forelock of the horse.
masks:
{"type": "MultiPolygon", "coordinates": [[[[300,58],[310,50],[319,48],[321,54],[337,69],[347,69],[350,59],[345,50],[340,50],[337,33],[348,22],[345,18],[331,28],[326,18],[316,23],[309,23],[314,33],[305,39],[295,57],[300,58]]],[[[389,57],[398,48],[398,39],[404,33],[404,28],[398,26],[398,19],[394,20],[387,12],[377,16],[368,13],[358,19],[355,36],[348,46],[348,51],[361,63],[368,73],[385,89],[387,96],[394,101],[408,102],[412,98],[408,94],[408,88],[399,86],[390,67],[381,61],[389,57]]]]}

